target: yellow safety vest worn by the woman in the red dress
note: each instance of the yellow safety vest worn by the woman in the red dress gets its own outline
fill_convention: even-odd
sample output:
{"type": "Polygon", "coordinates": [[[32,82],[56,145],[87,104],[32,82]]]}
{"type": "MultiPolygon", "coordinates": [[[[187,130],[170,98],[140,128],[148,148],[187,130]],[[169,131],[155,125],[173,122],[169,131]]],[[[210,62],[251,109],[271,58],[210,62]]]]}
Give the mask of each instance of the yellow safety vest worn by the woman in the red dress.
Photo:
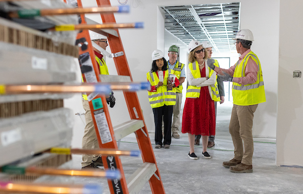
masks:
{"type": "MultiPolygon", "coordinates": [[[[207,67],[207,66],[206,66],[207,67]]],[[[188,64],[188,68],[193,76],[193,78],[201,78],[201,74],[200,74],[200,69],[199,69],[199,64],[197,61],[195,61],[195,65],[193,65],[192,63],[188,64]]],[[[212,70],[211,68],[209,69],[209,77],[212,76],[212,74],[214,73],[214,70],[212,70]]],[[[212,90],[212,100],[214,101],[220,101],[220,94],[219,94],[219,90],[218,87],[216,87],[216,85],[211,85],[211,90],[212,90]]],[[[198,98],[200,97],[200,89],[201,87],[197,87],[197,86],[188,86],[187,87],[187,91],[186,91],[186,98],[198,98]]]]}

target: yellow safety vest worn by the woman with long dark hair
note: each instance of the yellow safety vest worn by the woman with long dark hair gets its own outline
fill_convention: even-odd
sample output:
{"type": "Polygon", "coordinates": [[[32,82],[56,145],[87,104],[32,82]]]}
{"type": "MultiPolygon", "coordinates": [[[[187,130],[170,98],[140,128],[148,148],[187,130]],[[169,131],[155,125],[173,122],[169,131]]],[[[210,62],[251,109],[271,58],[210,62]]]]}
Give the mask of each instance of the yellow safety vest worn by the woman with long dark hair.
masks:
{"type": "MultiPolygon", "coordinates": [[[[163,85],[157,88],[156,92],[148,91],[148,100],[151,108],[176,104],[176,88],[167,90],[166,87],[168,75],[171,73],[173,73],[173,70],[165,71],[163,85]]],[[[156,72],[148,72],[146,74],[146,77],[151,86],[156,86],[160,82],[156,72]]]]}

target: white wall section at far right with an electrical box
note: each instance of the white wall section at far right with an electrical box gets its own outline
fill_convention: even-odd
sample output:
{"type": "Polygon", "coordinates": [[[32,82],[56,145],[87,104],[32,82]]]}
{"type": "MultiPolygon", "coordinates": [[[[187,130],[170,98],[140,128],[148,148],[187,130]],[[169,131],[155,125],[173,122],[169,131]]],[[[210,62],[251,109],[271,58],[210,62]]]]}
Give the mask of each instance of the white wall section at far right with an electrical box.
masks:
{"type": "Polygon", "coordinates": [[[280,45],[277,115],[277,165],[303,166],[302,1],[280,0],[280,45]],[[291,45],[291,46],[290,46],[291,45]],[[301,143],[300,143],[301,142],[301,143]]]}

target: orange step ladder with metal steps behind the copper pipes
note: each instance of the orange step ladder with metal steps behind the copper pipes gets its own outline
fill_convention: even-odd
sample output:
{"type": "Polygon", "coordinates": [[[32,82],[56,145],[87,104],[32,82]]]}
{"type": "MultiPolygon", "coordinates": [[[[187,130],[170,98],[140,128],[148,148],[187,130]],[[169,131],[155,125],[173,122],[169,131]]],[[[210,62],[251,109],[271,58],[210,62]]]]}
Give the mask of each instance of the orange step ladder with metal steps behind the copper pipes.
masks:
{"type": "MultiPolygon", "coordinates": [[[[96,1],[99,7],[111,6],[109,0],[96,1]]],[[[81,0],[77,0],[77,3],[78,7],[82,8],[81,0]]],[[[103,23],[116,23],[114,14],[100,15],[103,23]]],[[[81,24],[86,24],[84,15],[82,14],[80,16],[81,24]]],[[[128,67],[128,62],[126,60],[126,56],[123,54],[125,52],[118,29],[112,30],[111,32],[104,30],[100,33],[107,35],[108,37],[111,50],[113,53],[115,53],[112,54],[112,56],[114,57],[114,62],[119,76],[99,75],[98,63],[94,57],[94,51],[92,49],[92,42],[90,41],[88,30],[83,30],[78,34],[76,42],[76,44],[80,47],[80,66],[91,66],[94,70],[93,74],[91,72],[82,74],[84,82],[109,82],[109,80],[132,82],[133,80],[128,67]]],[[[137,94],[135,92],[126,91],[123,91],[123,93],[131,120],[116,127],[112,126],[105,96],[96,95],[93,93],[87,94],[99,147],[118,149],[116,141],[131,133],[135,133],[139,149],[141,150],[143,164],[127,180],[125,179],[122,163],[119,157],[102,157],[105,169],[119,169],[121,172],[122,178],[120,180],[108,179],[110,191],[112,194],[135,194],[140,191],[147,181],[149,181],[151,191],[154,194],[164,194],[164,186],[156,164],[157,162],[153,147],[151,146],[151,142],[148,137],[148,132],[145,126],[137,94]]]]}

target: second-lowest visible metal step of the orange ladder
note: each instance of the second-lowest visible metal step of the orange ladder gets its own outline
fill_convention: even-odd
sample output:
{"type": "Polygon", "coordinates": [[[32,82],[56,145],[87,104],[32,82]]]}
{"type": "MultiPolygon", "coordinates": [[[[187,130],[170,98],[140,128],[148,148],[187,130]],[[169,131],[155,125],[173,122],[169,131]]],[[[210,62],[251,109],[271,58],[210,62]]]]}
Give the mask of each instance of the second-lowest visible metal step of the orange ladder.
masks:
{"type": "Polygon", "coordinates": [[[143,120],[131,119],[127,122],[114,126],[116,141],[128,136],[144,126],[143,120]]]}

